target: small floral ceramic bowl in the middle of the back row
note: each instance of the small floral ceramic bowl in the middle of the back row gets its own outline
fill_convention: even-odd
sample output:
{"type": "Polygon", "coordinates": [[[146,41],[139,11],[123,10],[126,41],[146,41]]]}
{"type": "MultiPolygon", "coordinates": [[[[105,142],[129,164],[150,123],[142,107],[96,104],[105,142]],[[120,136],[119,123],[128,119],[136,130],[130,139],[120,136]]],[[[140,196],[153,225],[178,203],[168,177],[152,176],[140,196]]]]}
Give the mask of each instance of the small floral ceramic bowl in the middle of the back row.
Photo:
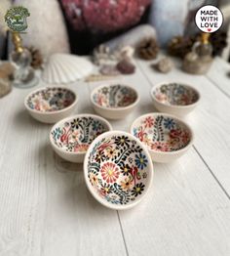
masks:
{"type": "Polygon", "coordinates": [[[128,85],[102,85],[92,92],[91,101],[99,115],[109,119],[122,119],[137,105],[139,96],[128,85]]]}

